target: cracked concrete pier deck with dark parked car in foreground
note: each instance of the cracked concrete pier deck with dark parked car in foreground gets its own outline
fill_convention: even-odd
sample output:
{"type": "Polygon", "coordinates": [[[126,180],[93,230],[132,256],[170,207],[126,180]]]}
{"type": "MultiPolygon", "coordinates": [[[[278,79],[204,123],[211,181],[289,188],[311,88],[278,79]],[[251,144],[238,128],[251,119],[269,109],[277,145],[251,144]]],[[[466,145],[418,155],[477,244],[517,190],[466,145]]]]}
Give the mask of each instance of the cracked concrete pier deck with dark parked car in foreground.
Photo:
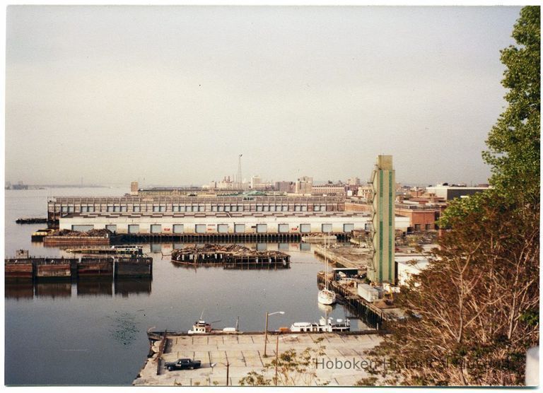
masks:
{"type": "MultiPolygon", "coordinates": [[[[228,364],[228,385],[240,385],[247,373],[262,373],[274,385],[275,369],[271,366],[264,373],[264,365],[275,359],[277,337],[279,336],[279,355],[289,349],[302,353],[312,348],[311,362],[307,373],[290,373],[294,382],[288,385],[352,386],[363,377],[368,377],[361,362],[367,361],[364,351],[378,345],[378,334],[341,333],[269,333],[267,357],[264,358],[264,333],[249,334],[206,334],[166,336],[164,351],[159,356],[160,341],[153,345],[155,352],[148,358],[144,368],[132,385],[135,386],[225,386],[228,364]],[[323,353],[317,351],[320,347],[323,353]],[[202,368],[196,370],[173,370],[164,368],[165,362],[178,358],[193,358],[202,361],[202,368]],[[346,361],[354,363],[349,368],[341,365],[346,361]],[[318,364],[317,364],[318,363],[318,364]],[[332,367],[328,367],[332,366],[332,367]],[[157,373],[158,371],[158,373],[157,373]],[[311,374],[315,372],[315,377],[311,374]]],[[[278,378],[278,385],[285,385],[278,378]]]]}

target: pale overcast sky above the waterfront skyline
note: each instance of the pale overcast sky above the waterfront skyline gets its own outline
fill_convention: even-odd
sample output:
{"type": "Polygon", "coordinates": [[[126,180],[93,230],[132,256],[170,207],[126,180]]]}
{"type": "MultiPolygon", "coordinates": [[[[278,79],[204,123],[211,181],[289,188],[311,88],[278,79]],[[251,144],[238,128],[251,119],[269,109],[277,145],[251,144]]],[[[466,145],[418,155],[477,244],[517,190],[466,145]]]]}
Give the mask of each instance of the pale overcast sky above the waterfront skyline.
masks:
{"type": "Polygon", "coordinates": [[[486,182],[519,11],[10,6],[6,180],[486,182]]]}

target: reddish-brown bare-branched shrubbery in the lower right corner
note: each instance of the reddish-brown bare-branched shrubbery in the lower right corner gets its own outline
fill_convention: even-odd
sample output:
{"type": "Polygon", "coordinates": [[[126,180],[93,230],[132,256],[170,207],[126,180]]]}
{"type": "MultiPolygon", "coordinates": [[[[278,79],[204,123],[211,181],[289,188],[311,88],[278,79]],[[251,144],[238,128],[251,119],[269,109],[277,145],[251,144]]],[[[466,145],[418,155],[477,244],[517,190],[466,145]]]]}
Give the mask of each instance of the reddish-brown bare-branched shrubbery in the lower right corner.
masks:
{"type": "Polygon", "coordinates": [[[526,221],[491,193],[479,202],[451,218],[430,266],[402,287],[408,317],[370,353],[390,360],[373,370],[381,383],[524,382],[525,353],[539,341],[539,215],[526,221]]]}

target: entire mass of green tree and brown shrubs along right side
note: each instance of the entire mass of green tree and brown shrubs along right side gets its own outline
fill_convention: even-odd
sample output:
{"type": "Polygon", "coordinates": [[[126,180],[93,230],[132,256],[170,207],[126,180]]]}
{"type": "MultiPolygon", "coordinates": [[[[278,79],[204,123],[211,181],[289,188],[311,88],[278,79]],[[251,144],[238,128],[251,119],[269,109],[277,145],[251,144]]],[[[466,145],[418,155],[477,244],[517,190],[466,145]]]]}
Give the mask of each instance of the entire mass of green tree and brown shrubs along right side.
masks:
{"type": "Polygon", "coordinates": [[[501,52],[508,107],[483,153],[493,188],[445,209],[440,249],[397,299],[407,319],[370,352],[389,366],[361,385],[524,383],[539,342],[539,20],[539,7],[522,8],[518,47],[501,52]]]}

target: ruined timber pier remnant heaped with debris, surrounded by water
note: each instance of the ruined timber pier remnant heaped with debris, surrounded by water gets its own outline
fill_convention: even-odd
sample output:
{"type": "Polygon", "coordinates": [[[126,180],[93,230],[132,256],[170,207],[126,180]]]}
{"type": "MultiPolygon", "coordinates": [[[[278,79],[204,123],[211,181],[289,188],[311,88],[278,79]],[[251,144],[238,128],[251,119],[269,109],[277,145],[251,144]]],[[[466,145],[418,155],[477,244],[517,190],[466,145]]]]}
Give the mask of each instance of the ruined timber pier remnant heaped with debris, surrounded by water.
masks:
{"type": "Polygon", "coordinates": [[[291,256],[280,251],[256,251],[240,245],[204,245],[172,252],[172,262],[182,265],[214,265],[224,269],[288,269],[291,256]]]}

